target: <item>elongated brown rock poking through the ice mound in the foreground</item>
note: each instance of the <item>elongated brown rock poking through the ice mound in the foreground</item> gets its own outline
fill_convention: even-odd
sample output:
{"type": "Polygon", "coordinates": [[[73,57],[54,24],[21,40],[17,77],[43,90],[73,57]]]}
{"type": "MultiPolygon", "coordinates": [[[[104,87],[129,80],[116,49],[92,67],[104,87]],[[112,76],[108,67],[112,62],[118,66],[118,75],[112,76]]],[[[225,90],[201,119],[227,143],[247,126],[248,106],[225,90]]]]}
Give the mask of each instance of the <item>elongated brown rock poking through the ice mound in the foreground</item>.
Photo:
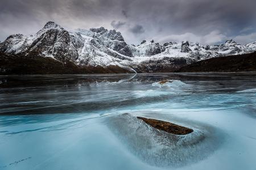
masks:
{"type": "Polygon", "coordinates": [[[145,118],[145,117],[137,117],[137,118],[143,120],[144,122],[146,122],[146,124],[156,128],[156,129],[163,130],[163,131],[166,131],[171,134],[186,135],[186,134],[193,132],[193,129],[189,129],[184,126],[172,124],[170,122],[155,120],[152,118],[145,118]]]}

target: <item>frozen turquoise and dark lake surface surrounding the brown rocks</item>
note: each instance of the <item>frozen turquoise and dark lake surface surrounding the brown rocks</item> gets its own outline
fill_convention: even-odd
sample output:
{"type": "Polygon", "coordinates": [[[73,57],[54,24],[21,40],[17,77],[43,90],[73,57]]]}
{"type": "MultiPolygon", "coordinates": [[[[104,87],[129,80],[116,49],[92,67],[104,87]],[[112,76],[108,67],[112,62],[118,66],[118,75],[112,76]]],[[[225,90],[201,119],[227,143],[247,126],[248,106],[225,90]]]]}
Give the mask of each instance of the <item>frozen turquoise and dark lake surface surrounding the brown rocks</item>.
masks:
{"type": "Polygon", "coordinates": [[[0,169],[255,170],[256,73],[0,76],[0,169]]]}

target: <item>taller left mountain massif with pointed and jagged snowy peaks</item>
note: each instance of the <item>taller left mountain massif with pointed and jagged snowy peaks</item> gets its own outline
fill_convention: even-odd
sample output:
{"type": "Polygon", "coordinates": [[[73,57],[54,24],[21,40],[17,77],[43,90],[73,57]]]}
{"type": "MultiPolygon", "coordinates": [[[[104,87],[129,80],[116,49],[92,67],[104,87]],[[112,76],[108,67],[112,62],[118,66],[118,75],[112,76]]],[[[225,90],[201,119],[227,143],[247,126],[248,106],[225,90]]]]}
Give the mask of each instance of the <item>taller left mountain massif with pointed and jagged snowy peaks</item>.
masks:
{"type": "Polygon", "coordinates": [[[133,57],[120,32],[91,28],[68,30],[48,22],[35,35],[11,35],[0,45],[0,51],[22,55],[53,57],[61,62],[79,65],[116,65],[120,59],[133,57]]]}

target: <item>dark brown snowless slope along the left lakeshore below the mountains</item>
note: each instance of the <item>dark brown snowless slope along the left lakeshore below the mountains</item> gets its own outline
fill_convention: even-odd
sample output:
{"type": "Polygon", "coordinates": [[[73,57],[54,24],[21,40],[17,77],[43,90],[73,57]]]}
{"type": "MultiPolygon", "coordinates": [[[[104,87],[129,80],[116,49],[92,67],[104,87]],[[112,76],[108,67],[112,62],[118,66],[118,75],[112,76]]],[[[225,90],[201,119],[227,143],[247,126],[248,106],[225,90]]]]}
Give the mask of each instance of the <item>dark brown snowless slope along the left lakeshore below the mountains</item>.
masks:
{"type": "Polygon", "coordinates": [[[118,66],[77,66],[51,57],[20,56],[0,53],[0,74],[90,74],[90,73],[129,73],[118,66]]]}

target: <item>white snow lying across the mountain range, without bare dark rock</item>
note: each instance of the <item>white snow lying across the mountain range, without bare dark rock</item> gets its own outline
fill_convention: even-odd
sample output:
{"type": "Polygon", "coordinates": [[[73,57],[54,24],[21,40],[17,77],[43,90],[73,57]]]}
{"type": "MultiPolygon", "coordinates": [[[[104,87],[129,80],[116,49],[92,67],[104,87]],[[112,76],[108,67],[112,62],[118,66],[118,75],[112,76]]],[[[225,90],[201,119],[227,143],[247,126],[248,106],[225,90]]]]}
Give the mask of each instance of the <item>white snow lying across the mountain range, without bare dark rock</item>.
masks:
{"type": "MultiPolygon", "coordinates": [[[[6,52],[9,53],[27,52],[27,50],[38,48],[40,41],[35,43],[35,40],[46,33],[49,29],[57,29],[59,31],[67,30],[69,32],[71,40],[69,42],[68,52],[71,54],[78,53],[76,63],[82,65],[118,65],[126,68],[130,67],[131,65],[139,65],[141,62],[146,62],[149,60],[159,61],[164,57],[187,58],[198,61],[210,57],[250,53],[256,50],[256,41],[246,45],[240,45],[233,40],[228,40],[225,42],[225,44],[213,45],[209,46],[209,48],[207,45],[189,42],[189,52],[181,52],[182,42],[170,42],[170,44],[163,46],[156,42],[152,42],[151,40],[146,40],[146,42],[138,46],[128,45],[128,48],[131,49],[134,56],[129,57],[117,52],[115,49],[118,44],[125,43],[123,41],[119,41],[119,39],[115,40],[121,36],[118,32],[107,31],[104,28],[104,31],[107,32],[97,33],[84,28],[67,29],[53,22],[48,22],[46,26],[39,32],[35,33],[35,35],[16,35],[12,39],[9,39],[8,42],[6,42],[7,40],[2,42],[2,44],[8,43],[9,48],[7,48],[6,52]],[[31,48],[31,44],[33,42],[34,46],[31,48]],[[158,54],[155,54],[156,49],[158,49],[158,52],[156,52],[158,54]],[[159,53],[159,49],[161,49],[162,52],[159,53]]],[[[60,47],[61,43],[62,42],[60,40],[53,46],[46,46],[46,51],[41,53],[42,56],[54,58],[55,54],[53,53],[53,49],[60,47]],[[52,53],[48,53],[47,51],[52,51],[52,53]]]]}

